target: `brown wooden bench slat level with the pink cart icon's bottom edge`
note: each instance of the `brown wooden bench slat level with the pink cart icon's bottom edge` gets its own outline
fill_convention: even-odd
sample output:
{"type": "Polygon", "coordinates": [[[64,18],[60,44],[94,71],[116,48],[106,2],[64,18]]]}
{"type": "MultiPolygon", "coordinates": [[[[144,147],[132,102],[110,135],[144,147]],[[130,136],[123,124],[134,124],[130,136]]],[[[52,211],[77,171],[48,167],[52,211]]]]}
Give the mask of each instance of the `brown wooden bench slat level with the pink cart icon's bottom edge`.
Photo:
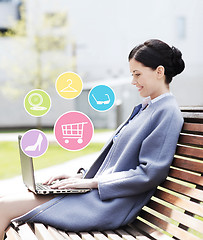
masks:
{"type": "Polygon", "coordinates": [[[186,157],[195,157],[198,159],[203,159],[203,150],[189,147],[189,146],[178,146],[176,149],[176,154],[186,157]]]}

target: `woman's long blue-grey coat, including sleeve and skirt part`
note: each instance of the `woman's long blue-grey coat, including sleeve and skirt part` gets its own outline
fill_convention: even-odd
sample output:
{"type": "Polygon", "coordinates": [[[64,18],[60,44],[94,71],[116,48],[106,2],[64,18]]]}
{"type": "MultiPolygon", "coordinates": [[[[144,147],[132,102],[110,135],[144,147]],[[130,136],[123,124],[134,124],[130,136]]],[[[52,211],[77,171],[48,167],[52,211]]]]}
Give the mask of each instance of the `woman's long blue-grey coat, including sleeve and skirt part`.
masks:
{"type": "Polygon", "coordinates": [[[149,105],[120,131],[114,143],[112,136],[86,173],[86,178],[98,178],[98,189],[60,195],[15,221],[68,231],[115,229],[132,222],[166,178],[182,124],[173,96],[149,105]]]}

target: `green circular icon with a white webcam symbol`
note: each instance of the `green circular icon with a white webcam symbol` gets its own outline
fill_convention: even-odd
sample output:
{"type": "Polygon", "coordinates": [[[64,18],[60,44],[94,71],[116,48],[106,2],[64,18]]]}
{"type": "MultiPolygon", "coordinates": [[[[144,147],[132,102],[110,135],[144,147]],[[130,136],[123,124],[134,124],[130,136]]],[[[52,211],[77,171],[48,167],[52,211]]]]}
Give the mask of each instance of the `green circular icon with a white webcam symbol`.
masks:
{"type": "Polygon", "coordinates": [[[51,107],[51,98],[41,89],[30,91],[24,98],[24,108],[31,116],[41,117],[48,113],[51,107]]]}

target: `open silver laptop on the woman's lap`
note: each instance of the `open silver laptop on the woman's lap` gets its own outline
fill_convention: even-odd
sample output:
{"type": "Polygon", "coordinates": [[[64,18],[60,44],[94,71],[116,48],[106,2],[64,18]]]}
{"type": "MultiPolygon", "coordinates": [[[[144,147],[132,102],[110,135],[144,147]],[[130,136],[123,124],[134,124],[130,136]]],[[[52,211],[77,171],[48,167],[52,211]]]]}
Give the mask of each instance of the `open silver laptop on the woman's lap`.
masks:
{"type": "Polygon", "coordinates": [[[21,162],[21,170],[22,177],[25,186],[35,194],[66,194],[66,193],[86,193],[91,189],[82,188],[82,189],[52,189],[50,185],[44,185],[43,183],[35,183],[34,176],[34,167],[33,167],[33,159],[24,154],[21,149],[20,141],[22,136],[18,136],[18,144],[20,150],[20,162],[21,162]]]}

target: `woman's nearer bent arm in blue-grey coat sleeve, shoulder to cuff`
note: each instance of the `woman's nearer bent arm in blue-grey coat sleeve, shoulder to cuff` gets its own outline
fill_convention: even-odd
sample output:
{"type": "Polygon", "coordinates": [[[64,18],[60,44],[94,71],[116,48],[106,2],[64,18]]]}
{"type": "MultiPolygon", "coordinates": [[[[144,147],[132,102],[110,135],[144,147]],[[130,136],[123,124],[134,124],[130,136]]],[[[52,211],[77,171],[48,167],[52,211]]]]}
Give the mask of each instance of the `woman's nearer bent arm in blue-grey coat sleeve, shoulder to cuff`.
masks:
{"type": "Polygon", "coordinates": [[[157,187],[166,178],[183,119],[176,111],[159,111],[151,121],[152,131],[142,142],[139,165],[128,171],[98,176],[98,191],[102,200],[142,194],[157,187]]]}

